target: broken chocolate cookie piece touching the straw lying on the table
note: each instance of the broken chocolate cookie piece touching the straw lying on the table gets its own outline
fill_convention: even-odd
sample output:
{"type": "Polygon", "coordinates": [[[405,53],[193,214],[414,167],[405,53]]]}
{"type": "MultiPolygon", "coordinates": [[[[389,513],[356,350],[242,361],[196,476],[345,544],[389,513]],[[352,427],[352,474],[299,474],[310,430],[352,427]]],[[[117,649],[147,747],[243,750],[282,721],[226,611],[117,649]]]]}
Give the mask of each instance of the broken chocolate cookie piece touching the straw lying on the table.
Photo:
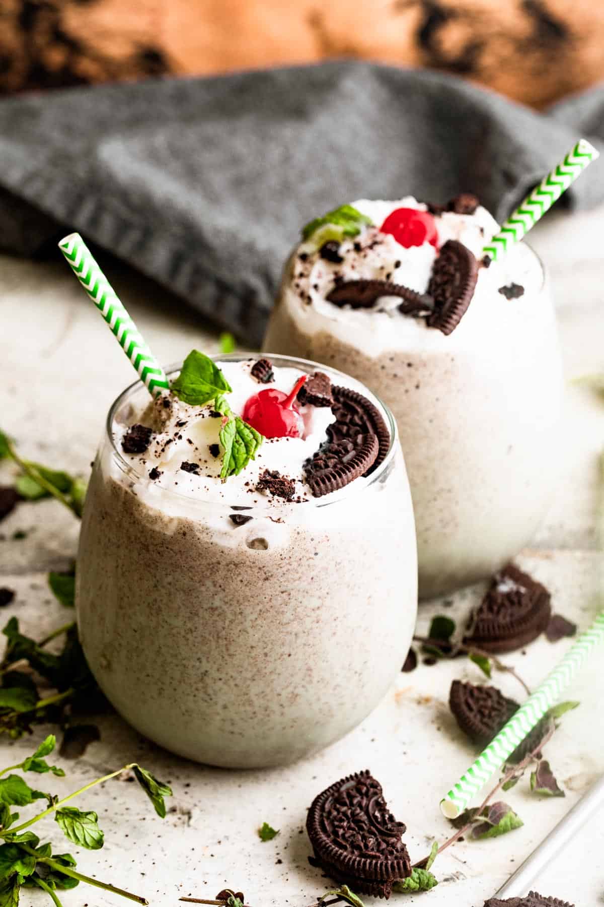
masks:
{"type": "Polygon", "coordinates": [[[520,706],[496,687],[477,687],[454,680],[449,708],[464,734],[478,746],[486,746],[520,706]]]}

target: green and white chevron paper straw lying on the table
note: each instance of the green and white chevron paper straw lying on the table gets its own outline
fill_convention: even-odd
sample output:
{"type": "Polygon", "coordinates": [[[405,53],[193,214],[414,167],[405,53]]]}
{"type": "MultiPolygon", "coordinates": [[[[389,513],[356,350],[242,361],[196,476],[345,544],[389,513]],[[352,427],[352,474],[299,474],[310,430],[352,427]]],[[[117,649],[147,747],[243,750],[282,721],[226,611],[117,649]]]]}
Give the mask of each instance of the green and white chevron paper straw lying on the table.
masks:
{"type": "Polygon", "coordinates": [[[532,728],[561,696],[564,689],[570,685],[577,672],[590,657],[592,650],[603,641],[604,611],[600,611],[590,629],[581,633],[557,668],[548,674],[542,685],[510,718],[484,752],[478,756],[474,765],[468,768],[457,784],[441,800],[440,808],[447,819],[455,819],[464,812],[472,797],[503,766],[516,746],[523,742],[532,728]]]}

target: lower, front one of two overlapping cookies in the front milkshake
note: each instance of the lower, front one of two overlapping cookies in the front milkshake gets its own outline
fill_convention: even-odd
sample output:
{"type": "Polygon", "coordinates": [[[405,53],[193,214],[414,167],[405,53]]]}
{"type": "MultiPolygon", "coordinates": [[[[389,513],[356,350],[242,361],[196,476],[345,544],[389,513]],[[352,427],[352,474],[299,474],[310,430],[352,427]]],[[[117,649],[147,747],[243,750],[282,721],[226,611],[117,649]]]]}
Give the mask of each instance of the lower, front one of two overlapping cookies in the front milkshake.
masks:
{"type": "Polygon", "coordinates": [[[304,463],[304,478],[312,496],[321,498],[354,482],[369,471],[378,454],[379,441],[375,434],[359,434],[354,440],[345,438],[323,444],[304,463]]]}

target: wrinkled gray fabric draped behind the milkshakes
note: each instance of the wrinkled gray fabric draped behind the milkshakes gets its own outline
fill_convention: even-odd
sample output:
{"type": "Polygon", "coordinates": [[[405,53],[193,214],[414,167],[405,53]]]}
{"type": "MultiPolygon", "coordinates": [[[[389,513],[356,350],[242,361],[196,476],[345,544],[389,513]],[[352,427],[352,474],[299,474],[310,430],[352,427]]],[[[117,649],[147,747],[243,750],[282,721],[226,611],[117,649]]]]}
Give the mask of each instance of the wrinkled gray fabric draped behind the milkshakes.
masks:
{"type": "MultiPolygon", "coordinates": [[[[603,110],[598,88],[541,114],[355,62],[12,98],[0,247],[31,254],[77,229],[257,344],[305,221],[355,198],[460,190],[503,219],[580,136],[604,140],[603,110]]],[[[565,200],[604,200],[604,161],[565,200]]]]}

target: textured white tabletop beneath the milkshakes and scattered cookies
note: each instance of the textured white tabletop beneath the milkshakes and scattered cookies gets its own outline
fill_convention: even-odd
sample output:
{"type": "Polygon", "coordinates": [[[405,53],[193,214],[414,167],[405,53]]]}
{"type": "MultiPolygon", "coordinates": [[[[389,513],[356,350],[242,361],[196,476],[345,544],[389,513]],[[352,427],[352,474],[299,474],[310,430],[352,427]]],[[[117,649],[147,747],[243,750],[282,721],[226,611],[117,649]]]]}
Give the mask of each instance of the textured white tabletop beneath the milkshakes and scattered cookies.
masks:
{"type": "MultiPolygon", "coordinates": [[[[569,378],[604,370],[601,306],[604,259],[601,236],[604,209],[590,214],[551,214],[533,231],[533,245],[550,270],[559,311],[561,340],[569,378]]],[[[120,296],[156,355],[176,361],[192,346],[216,350],[216,333],[183,312],[173,297],[114,262],[108,272],[120,296]]],[[[87,471],[110,402],[132,380],[131,366],[101,324],[62,261],[32,264],[0,258],[0,362],[5,375],[5,405],[0,426],[18,439],[22,451],[44,463],[87,471]]],[[[553,593],[556,610],[581,627],[596,612],[602,561],[598,552],[598,456],[604,448],[604,405],[584,388],[569,385],[565,478],[542,531],[521,563],[553,593]]],[[[8,478],[4,466],[0,481],[8,478]]],[[[17,590],[4,610],[36,637],[70,615],[51,600],[45,572],[61,569],[72,558],[78,527],[55,502],[23,504],[0,525],[0,585],[17,590]],[[31,531],[14,541],[14,531],[31,531]]],[[[446,613],[462,620],[481,590],[455,596],[446,613]]],[[[426,632],[430,616],[442,603],[424,606],[418,629],[426,632]]],[[[540,639],[508,657],[530,684],[536,684],[561,658],[565,641],[540,639]]],[[[565,799],[542,801],[528,793],[528,777],[505,795],[525,822],[502,838],[465,841],[436,861],[440,884],[421,895],[397,895],[398,902],[482,907],[504,879],[522,863],[590,783],[604,771],[601,723],[601,653],[570,690],[581,706],[564,717],[547,755],[566,790],[565,799]]],[[[280,770],[226,772],[170,756],[141,739],[120,718],[103,717],[101,741],[75,762],[63,760],[68,778],[53,779],[56,793],[67,793],[111,769],[139,760],[174,789],[170,812],[162,823],[138,785],[112,781],[84,795],[78,805],[95,809],[106,834],[97,853],[78,852],[82,872],[96,874],[158,905],[177,904],[182,895],[214,897],[225,885],[243,889],[255,907],[292,904],[306,907],[330,883],[307,863],[311,853],[302,827],[312,797],[342,775],[369,767],[384,786],[388,803],[407,823],[412,860],[427,853],[435,838],[450,834],[438,810],[446,788],[473,759],[448,713],[453,678],[479,680],[465,659],[434,667],[420,665],[401,674],[395,688],[364,724],[321,755],[280,770]],[[262,844],[256,828],[264,821],[281,829],[262,844]]],[[[513,697],[522,689],[508,675],[494,683],[513,697]]],[[[38,740],[50,728],[36,728],[38,740]]],[[[33,748],[27,738],[16,744],[0,740],[0,766],[18,761],[33,748]]],[[[44,776],[44,779],[47,776],[44,776]]],[[[53,841],[58,829],[48,824],[53,841]]],[[[37,829],[36,829],[37,830],[37,829]]],[[[577,907],[604,903],[604,833],[590,829],[552,865],[537,885],[577,907]]],[[[38,905],[43,892],[27,892],[23,907],[38,905]]],[[[369,899],[368,899],[369,900],[369,899]]],[[[81,885],[62,895],[65,907],[108,907],[120,902],[81,885]]],[[[125,902],[123,902],[125,903],[125,902]]]]}

